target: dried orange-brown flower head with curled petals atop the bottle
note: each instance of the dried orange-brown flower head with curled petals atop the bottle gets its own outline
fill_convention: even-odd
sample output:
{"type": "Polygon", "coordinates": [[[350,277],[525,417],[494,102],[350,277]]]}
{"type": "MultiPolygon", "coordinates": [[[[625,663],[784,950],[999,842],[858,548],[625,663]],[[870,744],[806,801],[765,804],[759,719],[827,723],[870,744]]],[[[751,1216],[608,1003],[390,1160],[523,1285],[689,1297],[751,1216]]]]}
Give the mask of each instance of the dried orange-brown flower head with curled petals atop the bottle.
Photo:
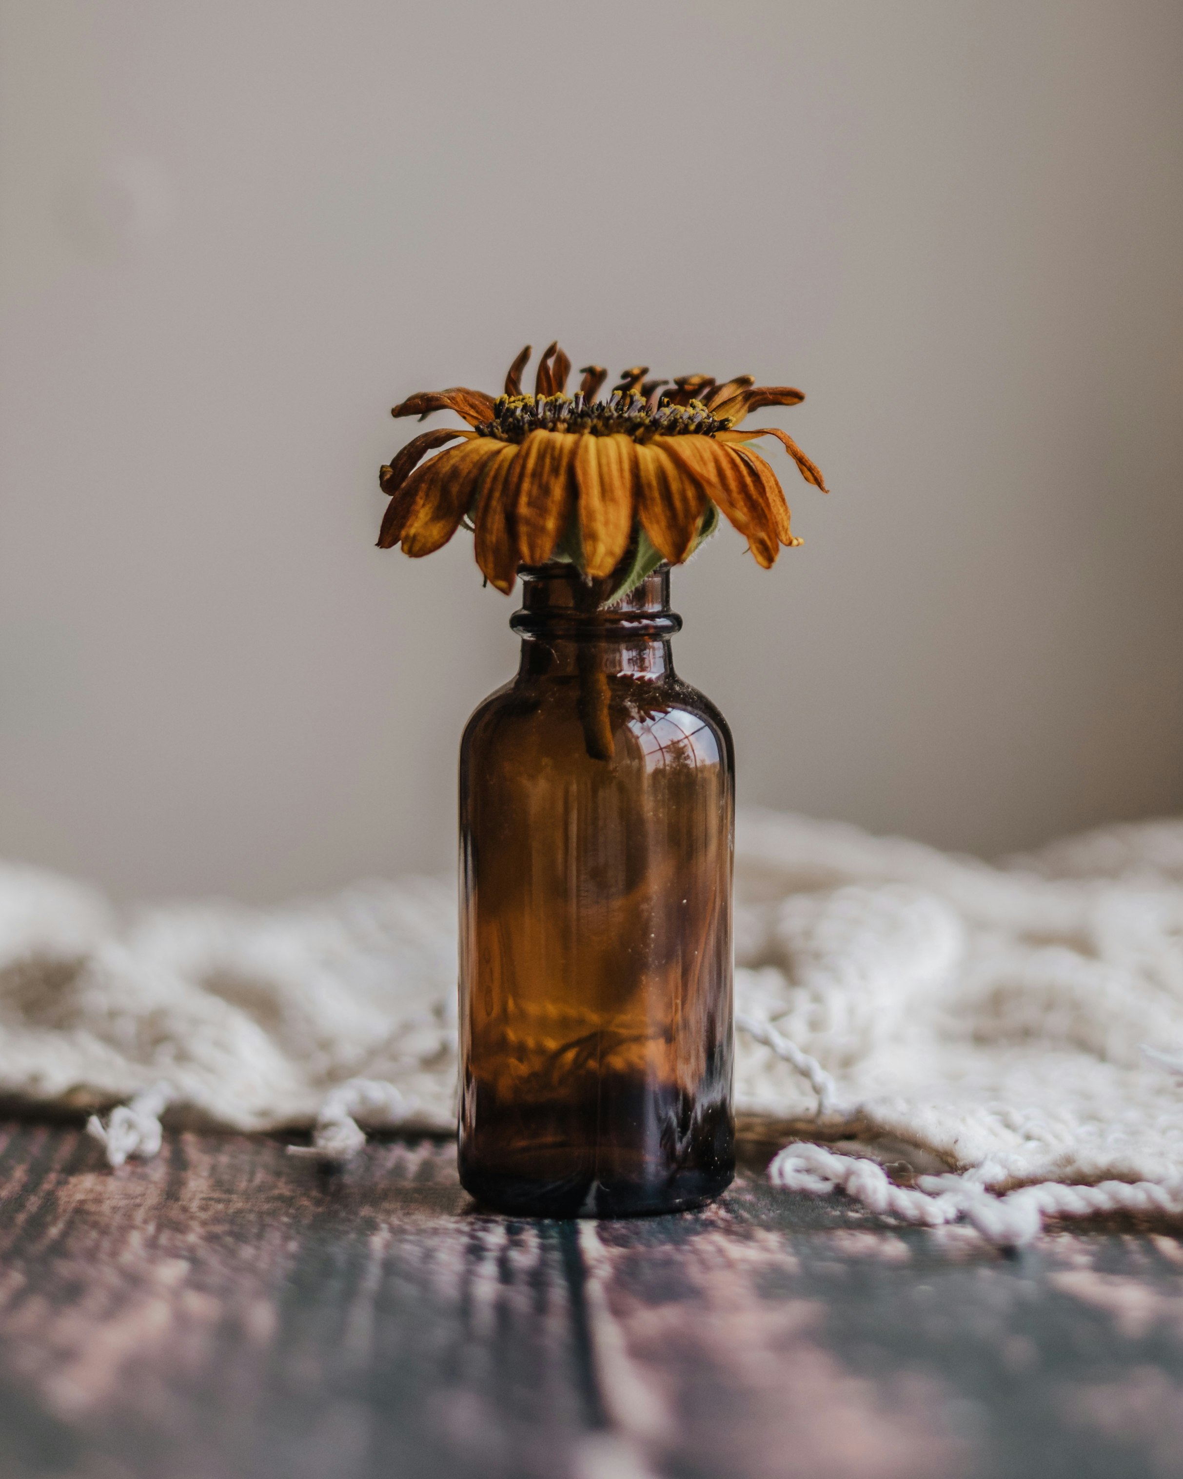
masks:
{"type": "Polygon", "coordinates": [[[498,590],[513,589],[519,565],[563,559],[617,599],[661,561],[688,559],[720,512],[765,568],[781,544],[801,543],[772,467],[747,444],[778,438],[806,482],[825,491],[821,472],[778,427],[736,430],[759,407],[797,405],[800,390],[757,386],[748,374],[722,385],[705,374],[646,380],[637,365],[600,401],[608,371],[587,365],[568,395],[571,361],[553,343],[534,395],[523,395],[529,353],[526,345],[495,401],[461,386],[393,408],[420,420],[455,411],[470,429],[423,432],[382,469],[390,504],[380,549],[430,555],[467,524],[476,563],[498,590]],[[423,461],[452,441],[460,445],[423,461]]]}

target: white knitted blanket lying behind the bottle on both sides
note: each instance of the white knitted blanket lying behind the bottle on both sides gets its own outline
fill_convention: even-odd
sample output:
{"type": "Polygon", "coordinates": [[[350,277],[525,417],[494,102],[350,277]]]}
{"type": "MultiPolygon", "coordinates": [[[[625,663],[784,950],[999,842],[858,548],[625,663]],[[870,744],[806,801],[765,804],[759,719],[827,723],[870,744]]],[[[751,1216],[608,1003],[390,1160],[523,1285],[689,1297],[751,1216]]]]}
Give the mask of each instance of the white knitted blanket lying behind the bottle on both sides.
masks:
{"type": "MultiPolygon", "coordinates": [[[[904,1142],[995,1189],[1183,1197],[1183,819],[992,867],[750,812],[736,904],[750,1130],[904,1142]]],[[[102,1108],[164,1080],[176,1114],[265,1130],[311,1124],[362,1078],[398,1093],[337,1094],[337,1121],[348,1100],[444,1128],[454,1028],[450,881],[121,917],[93,889],[0,868],[0,1093],[102,1108]]],[[[794,1165],[787,1185],[821,1189],[821,1161],[794,1165]]]]}

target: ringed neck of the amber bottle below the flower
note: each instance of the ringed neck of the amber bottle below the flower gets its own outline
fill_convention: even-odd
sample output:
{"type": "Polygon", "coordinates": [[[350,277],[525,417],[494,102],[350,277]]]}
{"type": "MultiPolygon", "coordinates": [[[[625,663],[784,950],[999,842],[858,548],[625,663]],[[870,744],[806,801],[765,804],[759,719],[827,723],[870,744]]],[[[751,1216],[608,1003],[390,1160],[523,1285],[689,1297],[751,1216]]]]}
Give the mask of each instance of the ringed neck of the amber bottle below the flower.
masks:
{"type": "Polygon", "coordinates": [[[580,673],[589,664],[621,677],[673,677],[670,637],[682,617],[670,611],[670,569],[646,575],[612,606],[596,606],[571,565],[540,565],[522,572],[522,609],[510,626],[522,637],[519,676],[580,673]]]}

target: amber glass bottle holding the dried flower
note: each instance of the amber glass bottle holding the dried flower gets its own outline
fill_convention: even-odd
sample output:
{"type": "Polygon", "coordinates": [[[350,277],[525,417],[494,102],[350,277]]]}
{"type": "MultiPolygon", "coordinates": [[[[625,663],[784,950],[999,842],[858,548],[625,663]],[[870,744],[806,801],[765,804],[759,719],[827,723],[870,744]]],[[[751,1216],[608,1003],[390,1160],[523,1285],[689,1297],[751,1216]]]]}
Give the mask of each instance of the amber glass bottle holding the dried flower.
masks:
{"type": "Polygon", "coordinates": [[[731,1182],[733,756],[679,682],[670,572],[608,609],[523,574],[518,677],[460,751],[460,1179],[509,1213],[731,1182]]]}

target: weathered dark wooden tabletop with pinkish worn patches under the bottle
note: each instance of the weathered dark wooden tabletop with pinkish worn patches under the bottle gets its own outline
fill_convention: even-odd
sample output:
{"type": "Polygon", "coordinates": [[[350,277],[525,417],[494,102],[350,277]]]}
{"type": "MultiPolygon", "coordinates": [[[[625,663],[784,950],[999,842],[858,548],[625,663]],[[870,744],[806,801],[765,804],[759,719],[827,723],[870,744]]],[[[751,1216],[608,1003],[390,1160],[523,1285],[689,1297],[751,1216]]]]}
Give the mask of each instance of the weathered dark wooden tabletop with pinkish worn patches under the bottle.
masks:
{"type": "Polygon", "coordinates": [[[634,1222],[475,1208],[450,1145],[345,1171],[0,1126],[3,1479],[1183,1476],[1183,1244],[1004,1256],[745,1171],[634,1222]]]}

